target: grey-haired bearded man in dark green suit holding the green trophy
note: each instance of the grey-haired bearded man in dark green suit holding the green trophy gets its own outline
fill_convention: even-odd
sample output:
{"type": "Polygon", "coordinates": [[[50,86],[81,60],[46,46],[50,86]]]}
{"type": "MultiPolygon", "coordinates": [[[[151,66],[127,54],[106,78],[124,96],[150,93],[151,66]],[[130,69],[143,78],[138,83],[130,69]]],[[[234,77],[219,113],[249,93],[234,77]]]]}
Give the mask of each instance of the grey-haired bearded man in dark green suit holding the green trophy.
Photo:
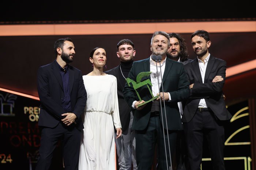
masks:
{"type": "Polygon", "coordinates": [[[159,94],[156,100],[138,107],[139,104],[152,98],[148,87],[142,86],[137,89],[142,101],[139,100],[132,86],[125,84],[123,90],[124,98],[128,105],[131,108],[135,108],[132,130],[135,130],[138,170],[151,170],[155,144],[158,145],[157,169],[166,170],[167,167],[169,169],[171,166],[170,155],[173,157],[176,146],[177,130],[182,129],[177,102],[189,96],[189,82],[183,64],[166,58],[168,47],[169,35],[163,31],[154,32],[151,39],[151,51],[152,55],[160,55],[162,57],[162,75],[160,74],[159,63],[156,64],[151,58],[152,55],[147,59],[133,62],[128,75],[128,78],[136,82],[137,75],[140,72],[152,72],[150,76],[144,76],[140,82],[150,79],[152,86],[149,87],[152,90],[152,94],[154,96],[159,94]],[[156,66],[158,66],[158,70],[156,66]],[[159,100],[162,102],[162,108],[159,100]],[[163,100],[165,100],[165,105],[163,100]],[[161,110],[163,115],[161,115],[161,110]]]}

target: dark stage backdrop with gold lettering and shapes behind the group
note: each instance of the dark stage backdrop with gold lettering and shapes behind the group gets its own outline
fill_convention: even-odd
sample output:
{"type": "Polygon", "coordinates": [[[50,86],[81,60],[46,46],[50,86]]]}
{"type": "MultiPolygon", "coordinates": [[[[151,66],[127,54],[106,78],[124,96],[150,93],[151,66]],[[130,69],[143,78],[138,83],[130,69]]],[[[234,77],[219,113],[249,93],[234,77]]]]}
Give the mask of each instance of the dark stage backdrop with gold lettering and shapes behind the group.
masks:
{"type": "MultiPolygon", "coordinates": [[[[195,59],[191,47],[191,33],[181,35],[187,42],[189,58],[195,59]]],[[[116,44],[119,40],[132,40],[136,50],[135,60],[140,60],[148,58],[151,54],[151,36],[152,34],[0,36],[0,87],[38,96],[36,87],[38,67],[55,59],[53,44],[59,38],[72,38],[76,51],[72,66],[86,75],[92,70],[89,54],[94,47],[105,48],[107,69],[104,70],[109,70],[120,63],[116,56],[116,44]]],[[[231,67],[255,59],[255,39],[256,32],[211,33],[212,44],[209,51],[211,55],[226,60],[227,67],[231,67]]],[[[250,170],[251,139],[247,99],[256,96],[256,91],[252,90],[256,86],[255,75],[256,70],[251,70],[229,77],[224,86],[226,104],[233,115],[232,122],[225,128],[227,170],[230,166],[250,170]],[[241,98],[244,100],[240,100],[241,98]]],[[[20,167],[32,170],[37,161],[40,145],[40,129],[37,127],[40,102],[3,91],[0,91],[0,102],[0,170],[20,167]]],[[[60,169],[62,166],[60,150],[60,147],[57,147],[52,169],[60,169]]],[[[205,152],[203,169],[210,166],[208,158],[209,155],[205,152]]]]}

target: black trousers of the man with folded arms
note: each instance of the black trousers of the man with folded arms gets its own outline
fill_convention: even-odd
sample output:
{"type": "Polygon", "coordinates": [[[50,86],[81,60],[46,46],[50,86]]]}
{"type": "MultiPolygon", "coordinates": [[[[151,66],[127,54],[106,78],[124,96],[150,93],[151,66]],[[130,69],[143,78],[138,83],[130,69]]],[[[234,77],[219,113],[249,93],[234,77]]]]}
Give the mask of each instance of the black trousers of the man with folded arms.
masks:
{"type": "Polygon", "coordinates": [[[210,150],[212,169],[225,170],[224,127],[212,111],[196,111],[189,123],[183,123],[187,141],[188,161],[191,170],[200,170],[203,154],[203,137],[210,150]]]}

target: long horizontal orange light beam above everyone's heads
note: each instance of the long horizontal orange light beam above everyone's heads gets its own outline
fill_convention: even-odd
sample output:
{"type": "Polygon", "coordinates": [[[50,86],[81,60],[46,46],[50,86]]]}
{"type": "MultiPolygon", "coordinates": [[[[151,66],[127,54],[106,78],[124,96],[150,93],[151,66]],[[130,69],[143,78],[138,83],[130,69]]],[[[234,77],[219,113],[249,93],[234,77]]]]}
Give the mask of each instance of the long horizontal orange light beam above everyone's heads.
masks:
{"type": "Polygon", "coordinates": [[[192,33],[198,29],[210,33],[256,32],[256,21],[0,25],[0,36],[152,34],[157,30],[192,33]]]}

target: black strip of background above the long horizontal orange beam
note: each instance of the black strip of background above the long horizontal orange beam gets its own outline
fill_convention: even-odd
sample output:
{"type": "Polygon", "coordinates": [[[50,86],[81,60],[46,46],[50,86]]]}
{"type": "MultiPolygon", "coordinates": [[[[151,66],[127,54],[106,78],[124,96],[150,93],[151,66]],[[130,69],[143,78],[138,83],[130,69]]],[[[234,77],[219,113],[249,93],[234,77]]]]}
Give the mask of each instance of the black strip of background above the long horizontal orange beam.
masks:
{"type": "Polygon", "coordinates": [[[0,24],[247,20],[253,1],[3,1],[0,24]]]}

